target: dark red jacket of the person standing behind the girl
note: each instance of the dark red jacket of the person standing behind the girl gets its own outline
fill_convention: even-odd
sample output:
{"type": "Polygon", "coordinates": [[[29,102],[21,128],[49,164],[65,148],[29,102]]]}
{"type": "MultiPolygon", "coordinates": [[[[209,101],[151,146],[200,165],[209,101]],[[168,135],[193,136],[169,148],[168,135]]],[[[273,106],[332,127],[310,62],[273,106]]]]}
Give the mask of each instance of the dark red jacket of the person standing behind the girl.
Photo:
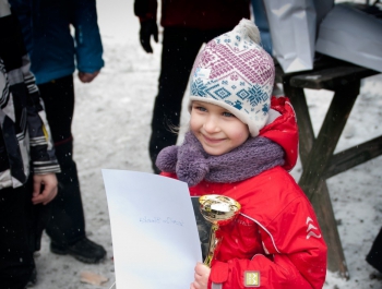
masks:
{"type": "MultiPolygon", "coordinates": [[[[140,21],[156,19],[156,0],[135,0],[140,21]]],[[[250,19],[249,0],[163,0],[160,25],[199,29],[234,28],[250,19]]]]}

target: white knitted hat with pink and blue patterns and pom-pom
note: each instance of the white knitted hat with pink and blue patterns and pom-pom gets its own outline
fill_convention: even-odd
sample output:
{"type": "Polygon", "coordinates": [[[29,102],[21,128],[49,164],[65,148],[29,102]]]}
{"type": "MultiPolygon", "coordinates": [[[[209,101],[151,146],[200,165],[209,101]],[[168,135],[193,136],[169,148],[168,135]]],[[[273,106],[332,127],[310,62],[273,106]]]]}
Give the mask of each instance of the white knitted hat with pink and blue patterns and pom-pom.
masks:
{"type": "Polygon", "coordinates": [[[265,125],[275,79],[272,57],[260,46],[254,23],[242,19],[231,31],[212,39],[198,55],[190,83],[190,103],[224,107],[252,136],[265,125]]]}

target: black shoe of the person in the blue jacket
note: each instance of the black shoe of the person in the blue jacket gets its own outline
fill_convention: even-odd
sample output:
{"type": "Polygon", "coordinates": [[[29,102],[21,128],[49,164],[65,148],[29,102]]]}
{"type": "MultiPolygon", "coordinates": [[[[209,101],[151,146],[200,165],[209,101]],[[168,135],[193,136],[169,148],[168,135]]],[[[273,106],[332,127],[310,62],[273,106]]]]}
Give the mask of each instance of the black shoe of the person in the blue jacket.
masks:
{"type": "Polygon", "coordinates": [[[106,256],[106,251],[102,245],[98,245],[86,237],[74,243],[73,245],[59,245],[55,241],[50,242],[50,251],[59,255],[72,255],[76,260],[95,264],[106,256]]]}

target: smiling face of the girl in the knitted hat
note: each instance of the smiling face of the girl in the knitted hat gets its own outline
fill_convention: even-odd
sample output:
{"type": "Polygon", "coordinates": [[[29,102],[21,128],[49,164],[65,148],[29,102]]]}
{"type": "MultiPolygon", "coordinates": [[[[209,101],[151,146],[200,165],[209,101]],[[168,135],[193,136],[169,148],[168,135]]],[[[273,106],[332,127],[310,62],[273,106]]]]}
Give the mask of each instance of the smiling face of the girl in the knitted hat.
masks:
{"type": "Polygon", "coordinates": [[[192,101],[190,127],[204,150],[213,156],[232,150],[249,136],[247,124],[231,112],[203,101],[192,101]]]}

